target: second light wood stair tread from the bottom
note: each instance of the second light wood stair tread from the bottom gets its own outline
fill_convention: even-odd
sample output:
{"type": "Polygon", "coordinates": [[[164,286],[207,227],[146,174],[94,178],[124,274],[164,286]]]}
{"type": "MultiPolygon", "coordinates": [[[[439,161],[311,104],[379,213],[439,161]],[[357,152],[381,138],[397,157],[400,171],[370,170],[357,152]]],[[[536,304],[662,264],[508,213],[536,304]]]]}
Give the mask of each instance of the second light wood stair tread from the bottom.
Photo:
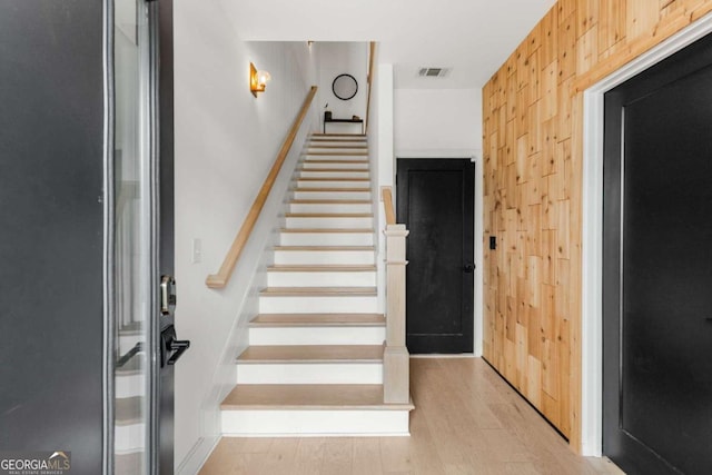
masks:
{"type": "Polygon", "coordinates": [[[383,345],[275,345],[249,346],[239,363],[378,363],[383,345]]]}

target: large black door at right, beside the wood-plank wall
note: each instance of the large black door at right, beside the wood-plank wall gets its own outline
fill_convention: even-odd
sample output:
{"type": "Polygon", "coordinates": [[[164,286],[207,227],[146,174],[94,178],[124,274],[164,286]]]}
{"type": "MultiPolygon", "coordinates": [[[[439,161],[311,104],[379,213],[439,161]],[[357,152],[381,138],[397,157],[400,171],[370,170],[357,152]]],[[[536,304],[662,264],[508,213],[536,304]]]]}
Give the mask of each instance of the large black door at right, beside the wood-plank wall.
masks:
{"type": "Polygon", "coordinates": [[[604,439],[630,474],[712,473],[712,39],[605,98],[604,439]]]}

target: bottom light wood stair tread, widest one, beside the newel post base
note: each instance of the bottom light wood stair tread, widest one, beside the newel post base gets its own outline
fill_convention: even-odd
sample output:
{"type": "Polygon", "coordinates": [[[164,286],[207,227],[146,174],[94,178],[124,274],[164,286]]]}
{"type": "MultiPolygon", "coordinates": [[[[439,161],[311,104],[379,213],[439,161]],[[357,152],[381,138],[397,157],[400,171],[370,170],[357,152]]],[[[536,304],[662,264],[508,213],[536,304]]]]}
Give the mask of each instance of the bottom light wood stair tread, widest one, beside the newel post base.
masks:
{"type": "Polygon", "coordinates": [[[413,405],[385,404],[379,384],[250,384],[235,386],[220,408],[403,410],[413,409],[413,405]]]}

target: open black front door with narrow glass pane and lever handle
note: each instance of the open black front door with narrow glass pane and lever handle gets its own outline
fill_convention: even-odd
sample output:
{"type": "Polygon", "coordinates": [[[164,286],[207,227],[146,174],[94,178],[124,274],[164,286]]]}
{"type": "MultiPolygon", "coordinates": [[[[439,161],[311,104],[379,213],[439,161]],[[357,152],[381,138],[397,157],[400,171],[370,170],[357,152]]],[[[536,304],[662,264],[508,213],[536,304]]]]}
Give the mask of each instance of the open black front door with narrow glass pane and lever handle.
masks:
{"type": "Polygon", "coordinates": [[[0,2],[0,462],[172,473],[170,23],[0,2]]]}

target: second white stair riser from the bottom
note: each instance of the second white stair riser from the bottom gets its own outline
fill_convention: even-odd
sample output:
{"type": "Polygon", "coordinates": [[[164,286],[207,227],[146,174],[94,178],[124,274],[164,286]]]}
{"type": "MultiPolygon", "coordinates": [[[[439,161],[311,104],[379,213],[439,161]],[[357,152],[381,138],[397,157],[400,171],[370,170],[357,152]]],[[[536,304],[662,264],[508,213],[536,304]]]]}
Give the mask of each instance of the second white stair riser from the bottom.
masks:
{"type": "Polygon", "coordinates": [[[238,363],[237,384],[383,384],[383,364],[238,363]]]}

